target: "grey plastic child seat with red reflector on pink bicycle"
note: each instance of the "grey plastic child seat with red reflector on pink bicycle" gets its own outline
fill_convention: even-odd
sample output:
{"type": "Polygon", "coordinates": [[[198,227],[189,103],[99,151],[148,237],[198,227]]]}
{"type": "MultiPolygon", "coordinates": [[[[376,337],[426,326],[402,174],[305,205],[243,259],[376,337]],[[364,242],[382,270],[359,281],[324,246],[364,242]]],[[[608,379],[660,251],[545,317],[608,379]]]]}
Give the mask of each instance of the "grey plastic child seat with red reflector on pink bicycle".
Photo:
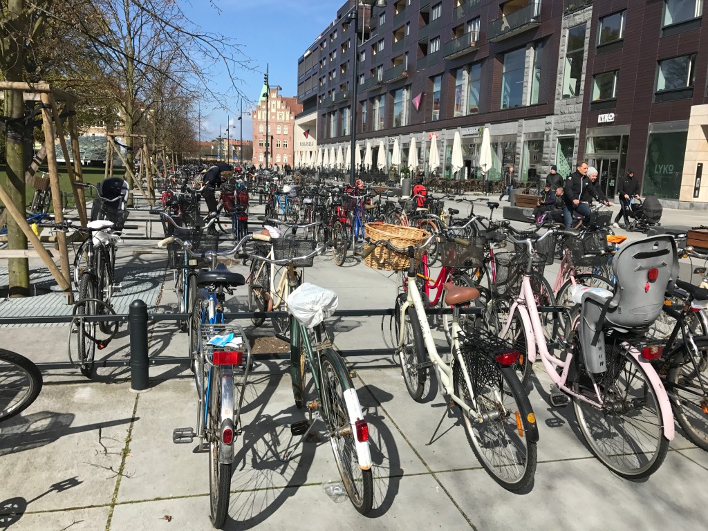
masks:
{"type": "Polygon", "coordinates": [[[617,251],[612,261],[615,292],[578,290],[578,326],[583,357],[590,372],[605,371],[603,329],[627,332],[651,325],[661,314],[664,295],[678,278],[678,255],[673,238],[661,234],[634,241],[617,251]],[[652,271],[650,275],[650,270],[652,271]],[[656,276],[655,280],[650,280],[656,276]]]}

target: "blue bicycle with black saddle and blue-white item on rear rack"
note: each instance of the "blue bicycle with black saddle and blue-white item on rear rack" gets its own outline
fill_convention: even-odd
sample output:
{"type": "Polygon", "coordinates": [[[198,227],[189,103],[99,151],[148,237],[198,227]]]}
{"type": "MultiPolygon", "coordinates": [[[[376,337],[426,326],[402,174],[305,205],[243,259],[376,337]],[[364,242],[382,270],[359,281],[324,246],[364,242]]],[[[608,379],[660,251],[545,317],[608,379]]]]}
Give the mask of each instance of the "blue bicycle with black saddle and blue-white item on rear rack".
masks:
{"type": "Polygon", "coordinates": [[[189,241],[170,236],[158,246],[176,243],[191,258],[208,257],[212,269],[200,271],[193,284],[200,288],[191,299],[190,368],[197,387],[197,426],[176,428],[172,440],[176,444],[190,444],[200,440],[200,450],[208,445],[210,518],[217,529],[224,526],[229,509],[234,442],[241,435],[241,407],[253,360],[251,346],[244,329],[226,324],[224,319],[224,291],[232,294],[232,287],[246,283],[244,276],[229,271],[224,264],[214,267],[217,256],[232,255],[246,239],[236,242],[229,251],[195,252],[189,241]],[[192,350],[192,347],[194,350],[192,350]],[[245,359],[244,359],[244,354],[245,359]],[[236,396],[236,379],[242,375],[236,396]]]}

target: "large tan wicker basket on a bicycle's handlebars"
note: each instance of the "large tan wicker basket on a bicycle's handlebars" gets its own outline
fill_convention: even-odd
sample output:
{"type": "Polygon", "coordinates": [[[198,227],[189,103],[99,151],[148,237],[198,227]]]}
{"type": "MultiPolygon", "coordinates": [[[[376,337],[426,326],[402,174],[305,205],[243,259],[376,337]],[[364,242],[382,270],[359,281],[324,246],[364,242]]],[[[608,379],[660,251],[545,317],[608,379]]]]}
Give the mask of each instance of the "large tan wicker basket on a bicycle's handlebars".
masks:
{"type": "MultiPolygon", "coordinates": [[[[388,240],[392,245],[405,249],[409,246],[417,246],[430,236],[428,232],[416,227],[401,227],[388,223],[366,223],[364,232],[367,238],[372,241],[388,240]]],[[[420,263],[420,253],[416,253],[415,267],[420,263]]],[[[370,268],[387,271],[405,271],[409,268],[411,257],[409,253],[392,251],[387,246],[379,245],[364,259],[364,263],[370,268]]]]}

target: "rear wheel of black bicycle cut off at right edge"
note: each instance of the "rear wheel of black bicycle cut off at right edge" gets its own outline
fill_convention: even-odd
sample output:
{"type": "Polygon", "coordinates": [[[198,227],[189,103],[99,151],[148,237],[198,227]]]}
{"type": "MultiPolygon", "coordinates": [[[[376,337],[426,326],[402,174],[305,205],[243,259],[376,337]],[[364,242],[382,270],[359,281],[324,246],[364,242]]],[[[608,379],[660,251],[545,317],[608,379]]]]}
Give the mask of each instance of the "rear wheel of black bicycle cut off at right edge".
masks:
{"type": "Polygon", "coordinates": [[[687,438],[708,451],[708,341],[695,340],[699,358],[691,360],[685,346],[670,358],[667,389],[673,414],[687,438]]]}

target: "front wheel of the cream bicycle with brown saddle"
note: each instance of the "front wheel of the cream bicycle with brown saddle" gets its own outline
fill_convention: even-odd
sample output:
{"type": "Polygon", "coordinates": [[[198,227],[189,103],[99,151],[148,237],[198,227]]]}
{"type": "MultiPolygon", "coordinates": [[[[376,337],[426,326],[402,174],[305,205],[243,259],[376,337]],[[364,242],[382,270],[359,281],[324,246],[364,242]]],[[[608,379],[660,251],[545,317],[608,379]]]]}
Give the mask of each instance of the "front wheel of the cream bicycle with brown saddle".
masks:
{"type": "MultiPolygon", "coordinates": [[[[394,308],[396,316],[396,341],[398,341],[400,336],[400,307],[401,300],[399,299],[396,301],[396,307],[394,308]]],[[[404,382],[406,382],[406,389],[408,389],[411,398],[419,402],[421,401],[421,396],[423,396],[423,389],[426,386],[427,372],[426,369],[419,366],[426,360],[426,350],[425,343],[423,343],[423,331],[421,330],[421,324],[418,321],[415,308],[409,307],[409,309],[406,310],[403,326],[403,346],[399,352],[399,363],[401,364],[404,382]]]]}

